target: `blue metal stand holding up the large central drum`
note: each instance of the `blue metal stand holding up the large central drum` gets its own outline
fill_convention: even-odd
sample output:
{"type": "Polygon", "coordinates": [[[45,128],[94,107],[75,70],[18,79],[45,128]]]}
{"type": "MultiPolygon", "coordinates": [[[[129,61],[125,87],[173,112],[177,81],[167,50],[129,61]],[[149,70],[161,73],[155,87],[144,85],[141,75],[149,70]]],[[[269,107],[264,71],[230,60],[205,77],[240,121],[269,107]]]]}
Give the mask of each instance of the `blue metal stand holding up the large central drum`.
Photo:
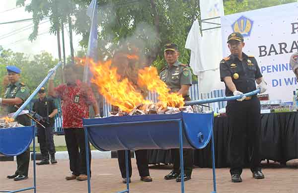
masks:
{"type": "MultiPolygon", "coordinates": [[[[101,123],[101,124],[89,124],[85,125],[84,124],[84,132],[85,132],[85,147],[86,147],[86,164],[87,164],[87,175],[88,175],[88,193],[91,193],[91,187],[90,187],[90,178],[89,178],[89,173],[90,173],[90,168],[89,168],[89,156],[88,156],[88,128],[91,127],[96,127],[96,128],[107,128],[107,127],[112,127],[112,126],[136,126],[142,124],[163,124],[163,123],[176,123],[179,126],[179,150],[180,150],[180,169],[181,169],[181,193],[184,193],[184,165],[183,165],[183,129],[182,129],[182,119],[169,119],[169,120],[152,120],[152,121],[132,121],[132,122],[122,122],[122,123],[101,123]]],[[[122,149],[119,149],[122,150],[122,149]]],[[[118,192],[118,193],[129,193],[129,170],[128,170],[128,149],[125,149],[125,164],[126,164],[126,185],[127,185],[127,190],[118,192]]],[[[214,157],[214,139],[213,139],[213,134],[212,134],[212,161],[213,161],[213,183],[214,183],[214,192],[216,193],[216,177],[215,177],[215,157],[214,157]]]]}

